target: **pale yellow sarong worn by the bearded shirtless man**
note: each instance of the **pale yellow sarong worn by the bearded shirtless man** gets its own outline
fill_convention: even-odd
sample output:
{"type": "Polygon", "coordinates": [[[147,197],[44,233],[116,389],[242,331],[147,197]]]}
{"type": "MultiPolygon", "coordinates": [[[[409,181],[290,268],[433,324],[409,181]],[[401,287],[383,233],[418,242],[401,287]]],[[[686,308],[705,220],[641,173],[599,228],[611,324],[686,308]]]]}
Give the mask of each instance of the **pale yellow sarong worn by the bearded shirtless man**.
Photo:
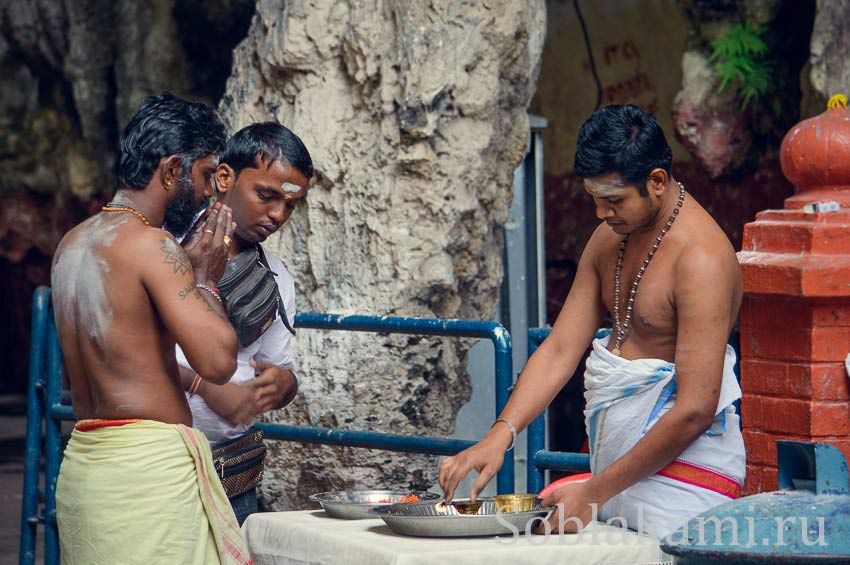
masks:
{"type": "Polygon", "coordinates": [[[86,420],[56,486],[64,565],[250,563],[204,435],[152,420],[86,420]]]}

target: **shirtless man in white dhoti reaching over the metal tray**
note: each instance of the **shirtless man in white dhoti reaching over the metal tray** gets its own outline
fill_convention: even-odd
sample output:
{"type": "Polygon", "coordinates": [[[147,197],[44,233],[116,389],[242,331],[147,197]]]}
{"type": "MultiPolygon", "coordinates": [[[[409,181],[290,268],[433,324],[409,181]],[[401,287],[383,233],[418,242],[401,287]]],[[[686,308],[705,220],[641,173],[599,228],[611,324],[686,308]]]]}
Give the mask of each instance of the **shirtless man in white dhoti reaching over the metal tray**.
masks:
{"type": "Polygon", "coordinates": [[[505,450],[569,380],[588,344],[589,481],[554,491],[565,531],[594,516],[664,536],[740,496],[744,444],[732,403],[741,391],[727,346],[741,305],[735,252],[677,183],[658,122],[608,106],[582,125],[575,172],[603,222],[582,254],[548,339],[529,359],[486,437],[443,461],[447,500],[472,469],[475,498],[505,450]],[[610,335],[597,335],[605,312],[610,335]],[[596,337],[594,337],[596,336],[596,337]],[[619,517],[619,520],[615,518],[619,517]],[[638,522],[641,522],[639,525],[638,522]]]}

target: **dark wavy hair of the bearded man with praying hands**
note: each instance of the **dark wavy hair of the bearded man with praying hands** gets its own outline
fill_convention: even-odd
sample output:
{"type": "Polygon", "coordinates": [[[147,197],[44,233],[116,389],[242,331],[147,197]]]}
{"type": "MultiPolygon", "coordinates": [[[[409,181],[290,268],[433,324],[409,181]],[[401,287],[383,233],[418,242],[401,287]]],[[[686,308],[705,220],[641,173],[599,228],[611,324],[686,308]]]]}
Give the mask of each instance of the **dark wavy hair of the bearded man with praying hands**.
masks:
{"type": "Polygon", "coordinates": [[[121,134],[118,188],[148,185],[163,157],[179,155],[186,177],[194,162],[218,153],[227,132],[206,104],[188,102],[169,92],[146,98],[121,134]]]}

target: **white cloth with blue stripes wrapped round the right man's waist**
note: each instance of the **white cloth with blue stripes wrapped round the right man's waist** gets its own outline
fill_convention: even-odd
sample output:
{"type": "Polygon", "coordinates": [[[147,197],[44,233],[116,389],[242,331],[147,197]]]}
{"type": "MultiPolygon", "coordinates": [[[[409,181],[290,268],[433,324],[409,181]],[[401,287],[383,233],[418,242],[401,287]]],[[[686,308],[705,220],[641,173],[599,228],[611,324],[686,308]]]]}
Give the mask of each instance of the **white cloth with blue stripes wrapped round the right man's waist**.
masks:
{"type": "MultiPolygon", "coordinates": [[[[599,473],[625,455],[676,401],[676,367],[662,359],[628,360],[606,348],[610,333],[593,341],[585,372],[585,424],[590,441],[590,467],[599,473]]],[[[735,351],[726,346],[723,381],[714,424],[677,459],[716,471],[743,484],[744,443],[733,403],[741,397],[735,378],[735,351]]],[[[675,479],[652,475],[608,501],[602,519],[624,518],[638,528],[642,508],[644,531],[662,537],[729,499],[675,479]]]]}

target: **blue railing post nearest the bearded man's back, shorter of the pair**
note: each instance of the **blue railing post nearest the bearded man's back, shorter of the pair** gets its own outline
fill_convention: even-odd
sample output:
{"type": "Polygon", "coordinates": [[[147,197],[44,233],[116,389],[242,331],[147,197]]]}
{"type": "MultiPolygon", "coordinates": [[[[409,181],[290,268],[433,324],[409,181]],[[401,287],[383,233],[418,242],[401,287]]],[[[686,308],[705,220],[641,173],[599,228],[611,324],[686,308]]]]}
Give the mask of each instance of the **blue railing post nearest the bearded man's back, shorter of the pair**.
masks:
{"type": "MultiPolygon", "coordinates": [[[[50,320],[48,320],[50,322],[50,320]]],[[[59,563],[59,531],[56,527],[56,479],[62,460],[62,422],[52,408],[62,398],[62,350],[56,324],[47,324],[47,407],[44,440],[44,560],[59,563]]]]}

